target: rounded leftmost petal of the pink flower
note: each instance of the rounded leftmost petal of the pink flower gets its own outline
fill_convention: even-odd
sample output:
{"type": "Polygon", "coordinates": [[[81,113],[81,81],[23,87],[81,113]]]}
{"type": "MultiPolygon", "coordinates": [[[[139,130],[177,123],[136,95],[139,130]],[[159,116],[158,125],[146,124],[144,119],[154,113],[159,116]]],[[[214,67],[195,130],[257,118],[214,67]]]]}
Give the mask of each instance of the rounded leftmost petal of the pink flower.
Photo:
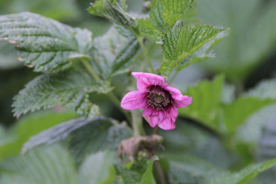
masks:
{"type": "Polygon", "coordinates": [[[128,92],[121,100],[121,108],[125,110],[144,109],[145,105],[147,105],[147,96],[148,92],[128,92]]]}

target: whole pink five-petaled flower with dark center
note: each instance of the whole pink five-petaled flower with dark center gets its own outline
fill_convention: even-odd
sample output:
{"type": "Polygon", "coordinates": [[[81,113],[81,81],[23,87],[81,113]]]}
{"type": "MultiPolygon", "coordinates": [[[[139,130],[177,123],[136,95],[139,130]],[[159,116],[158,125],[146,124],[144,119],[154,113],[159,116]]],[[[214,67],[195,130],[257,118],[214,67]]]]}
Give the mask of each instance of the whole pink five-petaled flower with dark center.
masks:
{"type": "Polygon", "coordinates": [[[163,76],[144,72],[132,72],[132,75],[137,79],[138,91],[128,92],[121,100],[121,107],[144,109],[142,115],[151,127],[158,124],[164,130],[174,129],[177,108],[190,105],[193,98],[183,96],[177,88],[168,85],[163,76]]]}

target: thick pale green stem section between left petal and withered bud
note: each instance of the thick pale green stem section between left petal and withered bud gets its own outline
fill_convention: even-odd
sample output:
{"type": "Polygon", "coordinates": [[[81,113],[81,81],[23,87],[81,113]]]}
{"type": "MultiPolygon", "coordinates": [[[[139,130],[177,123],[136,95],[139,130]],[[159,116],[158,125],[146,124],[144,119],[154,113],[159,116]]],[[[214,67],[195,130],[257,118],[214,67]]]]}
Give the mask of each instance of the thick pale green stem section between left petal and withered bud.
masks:
{"type": "Polygon", "coordinates": [[[140,110],[132,110],[131,117],[134,136],[145,136],[146,132],[143,127],[140,110]]]}

